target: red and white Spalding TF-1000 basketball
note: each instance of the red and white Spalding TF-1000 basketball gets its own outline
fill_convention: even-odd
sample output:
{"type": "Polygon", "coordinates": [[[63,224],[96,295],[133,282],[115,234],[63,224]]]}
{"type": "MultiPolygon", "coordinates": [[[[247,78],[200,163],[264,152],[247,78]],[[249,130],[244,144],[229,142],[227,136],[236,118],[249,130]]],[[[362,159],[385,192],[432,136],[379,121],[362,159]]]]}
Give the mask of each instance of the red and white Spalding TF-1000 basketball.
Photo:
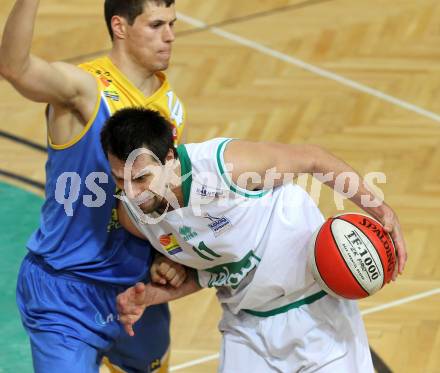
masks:
{"type": "Polygon", "coordinates": [[[328,219],[309,243],[312,275],[329,294],[360,299],[390,282],[396,249],[381,223],[362,214],[328,219]]]}

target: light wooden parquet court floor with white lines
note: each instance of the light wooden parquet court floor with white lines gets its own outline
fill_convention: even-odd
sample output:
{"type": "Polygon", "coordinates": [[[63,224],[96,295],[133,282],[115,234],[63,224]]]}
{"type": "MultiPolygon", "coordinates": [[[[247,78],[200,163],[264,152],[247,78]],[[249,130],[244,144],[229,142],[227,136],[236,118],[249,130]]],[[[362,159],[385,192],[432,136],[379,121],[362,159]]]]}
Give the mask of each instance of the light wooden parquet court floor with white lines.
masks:
{"type": "MultiPolygon", "coordinates": [[[[0,1],[1,28],[12,4],[0,1]]],[[[41,0],[33,52],[72,63],[105,53],[101,8],[101,1],[41,0]]],[[[396,283],[360,302],[370,345],[393,372],[440,372],[440,3],[177,0],[177,9],[169,76],[187,107],[188,142],[316,143],[362,175],[385,173],[380,188],[399,214],[409,262],[396,283]]],[[[1,182],[42,196],[44,106],[3,80],[0,92],[1,182]]],[[[319,206],[326,216],[338,212],[328,191],[319,206]]],[[[12,294],[15,277],[2,276],[12,294]]],[[[214,292],[176,301],[172,312],[172,371],[215,372],[214,292]]],[[[10,332],[6,324],[0,331],[2,339],[10,332]]],[[[18,356],[0,351],[0,372],[18,356]]],[[[23,359],[30,364],[28,352],[23,359]]]]}

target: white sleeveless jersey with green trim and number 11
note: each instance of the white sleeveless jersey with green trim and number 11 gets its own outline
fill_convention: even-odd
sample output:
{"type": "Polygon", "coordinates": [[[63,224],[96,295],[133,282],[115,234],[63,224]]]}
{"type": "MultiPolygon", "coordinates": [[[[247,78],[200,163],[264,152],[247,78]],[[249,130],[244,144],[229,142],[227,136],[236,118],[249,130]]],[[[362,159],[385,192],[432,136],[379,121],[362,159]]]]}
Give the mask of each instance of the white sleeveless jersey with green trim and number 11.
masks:
{"type": "Polygon", "coordinates": [[[324,220],[296,185],[235,185],[223,159],[230,141],[178,147],[184,207],[156,224],[141,223],[130,203],[127,210],[155,249],[196,269],[200,285],[216,287],[233,313],[270,313],[320,291],[307,269],[306,244],[324,220]]]}

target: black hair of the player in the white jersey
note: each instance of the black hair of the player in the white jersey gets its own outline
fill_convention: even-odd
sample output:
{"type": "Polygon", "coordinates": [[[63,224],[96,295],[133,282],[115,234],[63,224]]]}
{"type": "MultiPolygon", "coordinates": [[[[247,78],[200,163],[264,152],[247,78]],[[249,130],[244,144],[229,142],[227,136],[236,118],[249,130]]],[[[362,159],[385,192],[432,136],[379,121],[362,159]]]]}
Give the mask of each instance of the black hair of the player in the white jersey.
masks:
{"type": "Polygon", "coordinates": [[[168,151],[174,147],[173,126],[157,111],[127,108],[117,111],[101,131],[101,145],[107,156],[111,153],[121,161],[139,148],[147,148],[164,164],[168,151]]]}

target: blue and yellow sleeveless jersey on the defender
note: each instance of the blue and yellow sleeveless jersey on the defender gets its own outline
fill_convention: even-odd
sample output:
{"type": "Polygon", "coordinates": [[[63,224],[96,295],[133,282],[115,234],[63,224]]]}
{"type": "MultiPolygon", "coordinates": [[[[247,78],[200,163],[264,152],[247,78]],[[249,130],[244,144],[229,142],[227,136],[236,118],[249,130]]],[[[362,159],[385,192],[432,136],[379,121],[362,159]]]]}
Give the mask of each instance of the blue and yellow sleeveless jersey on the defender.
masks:
{"type": "Polygon", "coordinates": [[[163,73],[160,88],[145,97],[103,57],[80,65],[96,77],[99,97],[92,118],[67,144],[49,139],[46,163],[46,201],[40,227],[28,249],[56,270],[114,284],[133,284],[145,278],[150,250],[145,241],[119,225],[115,213],[116,186],[101,148],[101,129],[118,109],[143,106],[159,111],[180,139],[185,110],[163,73]]]}

